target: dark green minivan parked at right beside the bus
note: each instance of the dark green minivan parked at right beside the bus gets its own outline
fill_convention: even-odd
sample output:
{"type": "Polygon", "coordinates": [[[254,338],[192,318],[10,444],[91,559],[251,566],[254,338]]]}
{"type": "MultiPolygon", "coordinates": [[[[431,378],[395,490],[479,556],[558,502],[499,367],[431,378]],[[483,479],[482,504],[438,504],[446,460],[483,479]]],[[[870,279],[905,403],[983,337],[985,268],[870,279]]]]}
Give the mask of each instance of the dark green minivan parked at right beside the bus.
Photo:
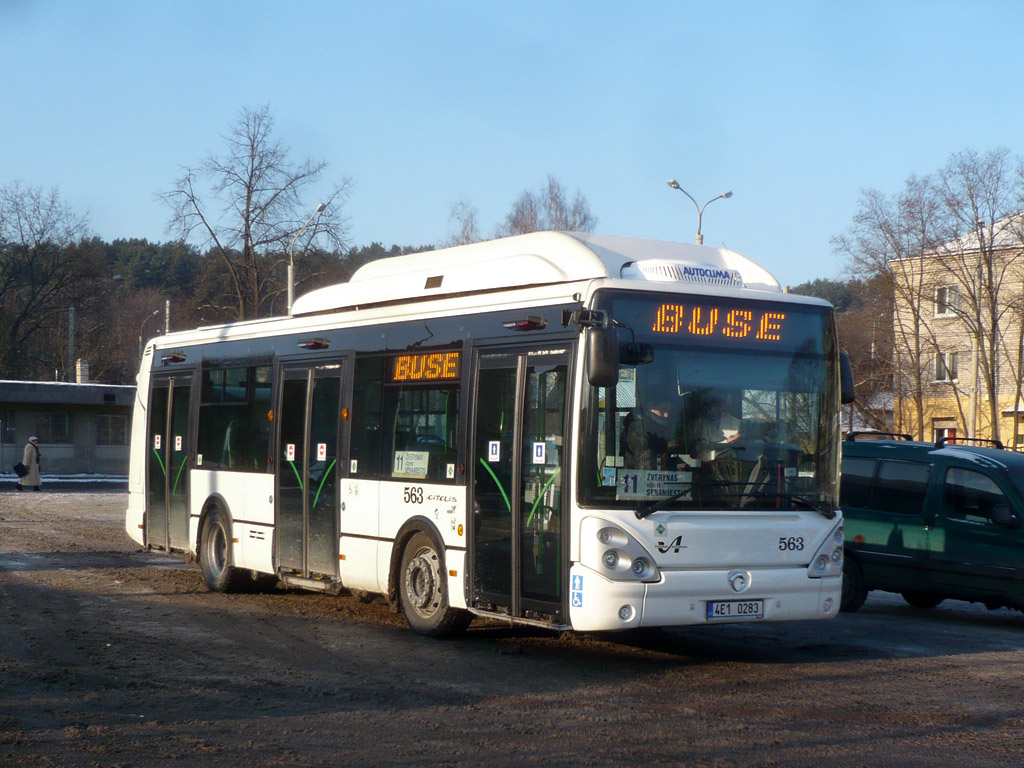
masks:
{"type": "Polygon", "coordinates": [[[840,506],[843,610],[870,590],[922,608],[953,598],[1024,610],[1024,454],[853,432],[840,506]]]}

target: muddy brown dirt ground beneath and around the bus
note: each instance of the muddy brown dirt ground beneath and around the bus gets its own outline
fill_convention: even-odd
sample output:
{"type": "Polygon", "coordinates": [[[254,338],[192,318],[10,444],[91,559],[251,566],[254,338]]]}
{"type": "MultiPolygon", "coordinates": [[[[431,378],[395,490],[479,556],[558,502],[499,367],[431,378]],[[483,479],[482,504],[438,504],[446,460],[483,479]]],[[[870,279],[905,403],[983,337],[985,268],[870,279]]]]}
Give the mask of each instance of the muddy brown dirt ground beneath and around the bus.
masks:
{"type": "Polygon", "coordinates": [[[1024,616],[412,633],[384,603],[206,591],[120,494],[0,493],[0,766],[1024,764],[1024,616]]]}

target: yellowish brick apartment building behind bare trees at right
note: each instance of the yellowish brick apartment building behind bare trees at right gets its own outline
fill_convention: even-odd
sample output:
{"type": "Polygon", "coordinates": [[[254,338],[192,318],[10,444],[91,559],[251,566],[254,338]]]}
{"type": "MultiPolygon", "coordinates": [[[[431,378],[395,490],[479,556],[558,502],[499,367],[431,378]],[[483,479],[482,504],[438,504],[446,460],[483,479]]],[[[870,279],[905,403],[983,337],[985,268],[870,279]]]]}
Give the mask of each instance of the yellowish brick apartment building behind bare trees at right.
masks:
{"type": "Polygon", "coordinates": [[[890,261],[894,428],[1024,449],[1024,217],[890,261]]]}

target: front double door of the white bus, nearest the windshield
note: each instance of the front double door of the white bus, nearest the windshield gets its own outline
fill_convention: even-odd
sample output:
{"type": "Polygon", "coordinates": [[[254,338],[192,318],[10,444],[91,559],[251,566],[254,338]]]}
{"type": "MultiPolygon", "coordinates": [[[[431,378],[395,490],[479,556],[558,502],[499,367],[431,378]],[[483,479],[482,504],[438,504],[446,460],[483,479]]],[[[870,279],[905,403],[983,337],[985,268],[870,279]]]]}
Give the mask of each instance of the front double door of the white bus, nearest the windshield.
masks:
{"type": "Polygon", "coordinates": [[[567,348],[480,352],[470,605],[565,620],[567,348]]]}

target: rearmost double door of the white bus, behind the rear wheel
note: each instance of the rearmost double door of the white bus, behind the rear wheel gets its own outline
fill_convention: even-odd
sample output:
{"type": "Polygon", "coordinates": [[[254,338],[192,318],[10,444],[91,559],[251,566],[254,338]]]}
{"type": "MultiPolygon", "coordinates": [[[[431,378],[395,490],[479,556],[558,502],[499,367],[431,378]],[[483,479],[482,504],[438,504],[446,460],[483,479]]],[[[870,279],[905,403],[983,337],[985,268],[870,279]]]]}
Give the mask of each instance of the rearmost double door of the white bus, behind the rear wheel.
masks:
{"type": "Polygon", "coordinates": [[[155,377],[150,394],[145,542],[188,549],[191,374],[155,377]]]}

